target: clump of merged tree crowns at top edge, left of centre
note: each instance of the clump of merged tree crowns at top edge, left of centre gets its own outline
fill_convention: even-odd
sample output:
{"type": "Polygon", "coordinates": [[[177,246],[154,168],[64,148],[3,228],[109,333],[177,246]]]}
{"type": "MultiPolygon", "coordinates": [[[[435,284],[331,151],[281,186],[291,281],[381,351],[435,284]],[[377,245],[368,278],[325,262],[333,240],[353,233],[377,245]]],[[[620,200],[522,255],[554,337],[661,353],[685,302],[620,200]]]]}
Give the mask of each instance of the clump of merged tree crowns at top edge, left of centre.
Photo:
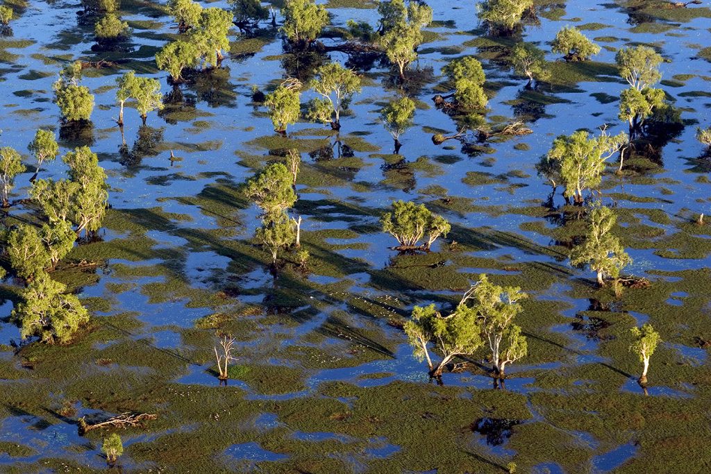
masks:
{"type": "Polygon", "coordinates": [[[218,7],[203,8],[193,0],[171,0],[168,9],[181,35],[156,53],[156,65],[173,83],[185,80],[184,70],[218,68],[230,49],[232,14],[218,7]]]}

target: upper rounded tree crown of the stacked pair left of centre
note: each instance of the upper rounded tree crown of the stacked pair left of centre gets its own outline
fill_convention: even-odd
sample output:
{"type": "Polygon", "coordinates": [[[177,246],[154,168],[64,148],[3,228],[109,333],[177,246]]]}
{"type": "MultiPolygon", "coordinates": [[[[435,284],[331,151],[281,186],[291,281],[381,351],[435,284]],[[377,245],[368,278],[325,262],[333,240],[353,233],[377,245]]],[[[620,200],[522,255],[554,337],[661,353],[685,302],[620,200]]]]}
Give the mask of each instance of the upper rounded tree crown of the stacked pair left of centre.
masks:
{"type": "Polygon", "coordinates": [[[244,193],[269,218],[296,203],[292,183],[292,172],[282,163],[272,163],[247,181],[244,193]]]}

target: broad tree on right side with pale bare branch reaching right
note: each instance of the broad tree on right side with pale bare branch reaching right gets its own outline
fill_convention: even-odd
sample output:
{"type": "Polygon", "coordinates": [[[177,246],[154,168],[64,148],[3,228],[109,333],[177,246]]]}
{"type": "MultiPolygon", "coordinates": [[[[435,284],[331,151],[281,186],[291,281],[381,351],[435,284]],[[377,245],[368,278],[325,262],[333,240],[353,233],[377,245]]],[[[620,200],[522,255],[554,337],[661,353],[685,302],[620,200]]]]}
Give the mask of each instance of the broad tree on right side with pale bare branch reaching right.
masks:
{"type": "MultiPolygon", "coordinates": [[[[605,162],[617,153],[628,141],[624,133],[610,136],[602,133],[589,138],[587,131],[576,131],[570,136],[561,135],[553,141],[548,151],[547,166],[557,167],[560,179],[565,184],[563,195],[573,198],[576,204],[583,203],[583,190],[595,188],[602,181],[605,162]]],[[[552,171],[547,171],[553,176],[552,171]]],[[[554,182],[555,183],[555,182],[554,182]]]]}

